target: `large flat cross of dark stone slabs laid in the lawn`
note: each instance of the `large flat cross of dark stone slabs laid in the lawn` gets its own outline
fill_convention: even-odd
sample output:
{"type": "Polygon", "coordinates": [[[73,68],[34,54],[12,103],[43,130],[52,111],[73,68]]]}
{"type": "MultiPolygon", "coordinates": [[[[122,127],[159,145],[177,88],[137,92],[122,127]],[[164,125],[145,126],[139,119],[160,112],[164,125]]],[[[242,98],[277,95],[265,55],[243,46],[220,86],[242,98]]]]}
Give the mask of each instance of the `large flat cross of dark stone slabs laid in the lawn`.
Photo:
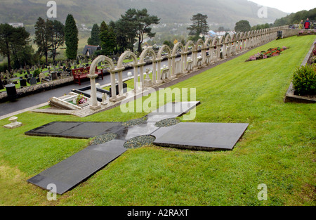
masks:
{"type": "Polygon", "coordinates": [[[127,149],[143,144],[190,150],[232,150],[249,124],[173,122],[174,125],[168,127],[166,119],[174,120],[198,104],[168,103],[142,119],[128,123],[51,122],[27,131],[25,134],[36,136],[91,138],[110,135],[114,138],[105,143],[100,140],[98,144],[88,146],[28,181],[44,189],[53,183],[57,188],[56,193],[62,194],[98,172],[127,149]],[[167,127],[159,127],[157,122],[167,127]]]}

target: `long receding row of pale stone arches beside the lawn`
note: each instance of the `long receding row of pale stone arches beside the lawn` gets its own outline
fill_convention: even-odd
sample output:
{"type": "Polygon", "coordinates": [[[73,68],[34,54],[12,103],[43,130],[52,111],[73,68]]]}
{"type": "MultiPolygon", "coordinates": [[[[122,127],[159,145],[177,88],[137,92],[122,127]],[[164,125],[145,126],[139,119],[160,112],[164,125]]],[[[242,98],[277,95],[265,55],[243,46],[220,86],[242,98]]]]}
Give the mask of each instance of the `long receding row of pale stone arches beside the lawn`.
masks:
{"type": "Polygon", "coordinates": [[[120,101],[125,98],[123,93],[122,72],[125,70],[124,59],[126,58],[133,60],[134,93],[138,93],[144,89],[144,67],[146,65],[144,59],[146,57],[151,57],[152,84],[157,86],[157,84],[168,82],[175,77],[179,77],[205,65],[210,65],[220,59],[228,58],[241,51],[268,43],[276,39],[277,31],[283,30],[284,28],[288,27],[274,27],[265,30],[239,32],[233,35],[228,34],[226,37],[207,38],[205,41],[202,39],[199,39],[197,42],[187,41],[185,45],[178,42],[172,49],[167,45],[163,45],[159,48],[157,53],[152,48],[145,48],[140,54],[139,60],[135,53],[125,51],[119,57],[117,67],[115,67],[110,58],[98,56],[98,58],[93,61],[93,64],[91,64],[90,75],[93,75],[93,70],[95,70],[98,63],[107,63],[110,66],[109,72],[112,86],[112,97],[110,101],[120,101]],[[198,56],[199,53],[200,56],[198,56]],[[192,54],[191,57],[189,57],[190,54],[192,54]],[[180,59],[176,60],[178,56],[180,56],[180,59]],[[164,59],[168,60],[166,67],[162,67],[162,60],[164,59]],[[116,79],[116,75],[118,79],[116,79]],[[119,84],[118,95],[116,91],[117,82],[119,84]]]}

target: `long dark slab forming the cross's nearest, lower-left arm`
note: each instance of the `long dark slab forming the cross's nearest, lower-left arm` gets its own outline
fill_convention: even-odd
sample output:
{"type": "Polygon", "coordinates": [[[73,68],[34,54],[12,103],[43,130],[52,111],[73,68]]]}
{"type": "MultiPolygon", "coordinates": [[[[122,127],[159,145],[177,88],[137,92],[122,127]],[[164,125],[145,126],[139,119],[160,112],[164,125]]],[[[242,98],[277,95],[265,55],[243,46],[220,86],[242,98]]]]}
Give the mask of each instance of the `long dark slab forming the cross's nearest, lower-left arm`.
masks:
{"type": "Polygon", "coordinates": [[[88,146],[27,181],[44,189],[53,183],[56,193],[62,195],[124,153],[124,143],[125,141],[112,140],[101,145],[88,146]]]}

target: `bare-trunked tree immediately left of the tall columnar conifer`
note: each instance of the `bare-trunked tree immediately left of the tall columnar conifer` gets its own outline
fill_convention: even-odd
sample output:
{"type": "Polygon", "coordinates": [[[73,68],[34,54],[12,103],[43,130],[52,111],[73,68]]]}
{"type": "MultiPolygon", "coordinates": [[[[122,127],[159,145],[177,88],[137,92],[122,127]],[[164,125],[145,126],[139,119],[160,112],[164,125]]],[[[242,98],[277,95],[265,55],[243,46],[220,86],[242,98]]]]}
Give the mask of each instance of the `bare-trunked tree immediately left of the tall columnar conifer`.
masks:
{"type": "Polygon", "coordinates": [[[53,61],[55,61],[56,55],[58,55],[57,49],[60,46],[64,45],[65,42],[65,25],[58,20],[49,21],[52,25],[52,32],[51,32],[51,57],[53,61]]]}

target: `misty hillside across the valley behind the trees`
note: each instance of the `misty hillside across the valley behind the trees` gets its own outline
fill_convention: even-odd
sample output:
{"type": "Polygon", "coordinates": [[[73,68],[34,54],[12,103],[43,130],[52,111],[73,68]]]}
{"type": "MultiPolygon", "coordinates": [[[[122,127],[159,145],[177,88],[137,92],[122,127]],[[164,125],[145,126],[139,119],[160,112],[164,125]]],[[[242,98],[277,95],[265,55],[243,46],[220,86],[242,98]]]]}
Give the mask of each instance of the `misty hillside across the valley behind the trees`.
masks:
{"type": "MultiPolygon", "coordinates": [[[[34,25],[38,17],[46,18],[47,0],[1,0],[0,22],[24,22],[34,25]]],[[[274,22],[287,15],[268,8],[268,18],[258,18],[257,4],[247,0],[55,0],[57,19],[65,22],[68,13],[79,23],[91,25],[102,20],[117,20],[129,8],[147,8],[161,18],[162,23],[190,23],[195,13],[209,16],[209,24],[235,27],[238,20],[249,20],[251,25],[274,22]]]]}

